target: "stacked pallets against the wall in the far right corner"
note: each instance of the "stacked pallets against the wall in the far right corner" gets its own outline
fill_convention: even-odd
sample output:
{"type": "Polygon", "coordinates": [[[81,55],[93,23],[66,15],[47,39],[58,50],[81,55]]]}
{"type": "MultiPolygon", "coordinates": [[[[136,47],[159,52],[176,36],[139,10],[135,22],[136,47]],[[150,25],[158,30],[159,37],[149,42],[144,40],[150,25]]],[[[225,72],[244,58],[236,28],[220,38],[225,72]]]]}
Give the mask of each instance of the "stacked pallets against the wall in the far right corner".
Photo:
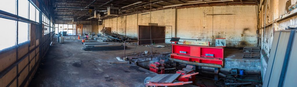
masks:
{"type": "Polygon", "coordinates": [[[260,58],[260,48],[252,46],[244,47],[243,58],[260,58]]]}

